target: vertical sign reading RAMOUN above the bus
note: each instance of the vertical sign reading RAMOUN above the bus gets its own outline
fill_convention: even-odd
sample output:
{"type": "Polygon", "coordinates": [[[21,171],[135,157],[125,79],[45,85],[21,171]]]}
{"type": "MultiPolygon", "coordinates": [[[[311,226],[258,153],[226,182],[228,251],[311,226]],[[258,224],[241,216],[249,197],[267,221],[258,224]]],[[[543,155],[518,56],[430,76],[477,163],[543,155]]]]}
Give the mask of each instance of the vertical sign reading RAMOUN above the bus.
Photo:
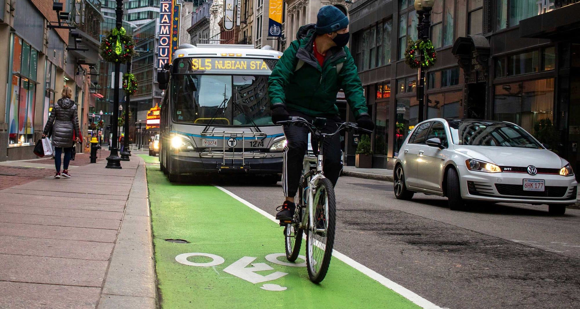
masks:
{"type": "Polygon", "coordinates": [[[177,0],[161,0],[159,23],[159,54],[157,68],[171,63],[173,52],[179,43],[179,12],[181,5],[177,0]]]}

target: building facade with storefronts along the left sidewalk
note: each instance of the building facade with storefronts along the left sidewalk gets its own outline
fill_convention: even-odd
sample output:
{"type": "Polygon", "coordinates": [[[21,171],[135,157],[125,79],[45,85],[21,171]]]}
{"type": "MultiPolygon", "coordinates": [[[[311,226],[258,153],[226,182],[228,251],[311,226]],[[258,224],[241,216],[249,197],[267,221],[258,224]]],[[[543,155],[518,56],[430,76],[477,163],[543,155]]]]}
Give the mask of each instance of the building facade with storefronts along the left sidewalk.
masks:
{"type": "Polygon", "coordinates": [[[64,85],[73,89],[81,132],[87,132],[93,103],[89,64],[98,61],[95,48],[103,18],[98,1],[62,2],[62,12],[70,14],[60,22],[75,27],[75,36],[49,27],[58,25],[51,1],[2,1],[0,39],[6,43],[0,46],[0,83],[6,87],[0,88],[5,98],[0,104],[0,161],[36,158],[35,141],[64,85]]]}

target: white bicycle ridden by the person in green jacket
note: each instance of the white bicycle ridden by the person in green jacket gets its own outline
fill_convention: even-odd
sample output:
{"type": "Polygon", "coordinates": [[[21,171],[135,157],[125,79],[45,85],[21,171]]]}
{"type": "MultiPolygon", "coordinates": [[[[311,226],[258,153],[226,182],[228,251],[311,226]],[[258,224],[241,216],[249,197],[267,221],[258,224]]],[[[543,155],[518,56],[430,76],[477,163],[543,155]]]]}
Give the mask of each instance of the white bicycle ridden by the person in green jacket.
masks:
{"type": "Polygon", "coordinates": [[[284,228],[284,242],[286,258],[295,261],[302,246],[302,233],[306,230],[306,268],[310,281],[319,283],[326,276],[330,265],[336,227],[334,187],[324,177],[322,170],[324,139],[343,129],[372,131],[358,128],[353,122],[344,122],[340,123],[334,133],[321,133],[320,128],[326,125],[326,118],[315,118],[313,122],[300,117],[278,121],[282,125],[305,125],[318,145],[318,154],[304,156],[302,176],[294,199],[294,217],[284,228]]]}

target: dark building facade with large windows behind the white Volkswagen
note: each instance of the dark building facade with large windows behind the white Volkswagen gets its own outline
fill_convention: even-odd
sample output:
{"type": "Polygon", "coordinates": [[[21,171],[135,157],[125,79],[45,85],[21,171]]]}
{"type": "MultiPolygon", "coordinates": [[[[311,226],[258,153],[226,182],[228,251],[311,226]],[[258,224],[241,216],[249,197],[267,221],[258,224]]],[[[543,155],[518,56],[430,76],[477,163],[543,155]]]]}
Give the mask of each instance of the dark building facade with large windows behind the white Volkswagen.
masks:
{"type": "MultiPolygon", "coordinates": [[[[506,120],[535,136],[546,123],[542,119],[549,119],[561,140],[552,147],[576,161],[572,146],[580,134],[572,134],[578,126],[570,114],[578,96],[578,88],[572,90],[578,32],[570,29],[578,29],[579,19],[570,12],[580,4],[572,2],[435,1],[430,39],[437,62],[426,74],[427,118],[506,120]],[[549,31],[532,27],[548,18],[563,24],[545,26],[549,31]]],[[[349,17],[351,52],[376,125],[373,166],[391,168],[418,122],[418,74],[404,61],[408,40],[418,35],[414,1],[359,0],[349,17]]],[[[354,161],[356,140],[353,134],[347,138],[347,163],[354,161]]]]}

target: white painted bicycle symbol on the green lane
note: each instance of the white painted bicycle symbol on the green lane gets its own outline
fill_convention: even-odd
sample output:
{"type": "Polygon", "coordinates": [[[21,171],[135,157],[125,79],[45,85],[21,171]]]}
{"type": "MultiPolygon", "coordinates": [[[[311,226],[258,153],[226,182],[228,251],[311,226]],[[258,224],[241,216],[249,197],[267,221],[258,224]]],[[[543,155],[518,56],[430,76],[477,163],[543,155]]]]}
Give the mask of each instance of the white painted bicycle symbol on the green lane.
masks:
{"type": "MultiPolygon", "coordinates": [[[[278,257],[280,257],[280,256],[285,257],[286,255],[285,255],[285,253],[272,253],[271,255],[266,256],[266,260],[269,261],[270,263],[274,263],[274,264],[278,264],[278,265],[282,265],[282,266],[306,267],[306,257],[305,256],[302,256],[302,255],[298,256],[300,259],[304,260],[303,263],[282,262],[282,261],[278,260],[278,257]]],[[[266,281],[273,281],[276,279],[280,279],[280,278],[284,277],[285,275],[288,275],[288,272],[281,272],[281,271],[276,271],[276,272],[273,272],[272,274],[265,275],[265,276],[260,275],[260,274],[256,274],[256,271],[274,270],[273,267],[271,267],[270,265],[268,265],[266,263],[252,263],[256,259],[257,259],[257,257],[244,256],[241,259],[230,264],[230,266],[224,268],[223,271],[227,272],[230,275],[234,275],[235,277],[244,279],[245,281],[248,281],[248,282],[251,282],[254,284],[266,282],[266,281]],[[248,266],[250,266],[250,264],[251,264],[251,267],[248,267],[248,266]]],[[[187,266],[197,266],[197,267],[218,266],[218,265],[225,263],[225,261],[226,261],[221,256],[212,255],[211,253],[201,253],[201,252],[182,253],[182,254],[176,256],[175,260],[178,263],[181,263],[181,264],[184,264],[187,266]],[[206,263],[194,263],[194,262],[187,260],[187,258],[191,257],[191,256],[205,256],[205,257],[209,257],[212,260],[209,262],[206,262],[206,263]]],[[[284,286],[277,285],[277,284],[267,283],[267,284],[264,284],[263,286],[260,286],[260,289],[270,290],[270,291],[282,291],[282,290],[285,290],[287,288],[284,286]]]]}

